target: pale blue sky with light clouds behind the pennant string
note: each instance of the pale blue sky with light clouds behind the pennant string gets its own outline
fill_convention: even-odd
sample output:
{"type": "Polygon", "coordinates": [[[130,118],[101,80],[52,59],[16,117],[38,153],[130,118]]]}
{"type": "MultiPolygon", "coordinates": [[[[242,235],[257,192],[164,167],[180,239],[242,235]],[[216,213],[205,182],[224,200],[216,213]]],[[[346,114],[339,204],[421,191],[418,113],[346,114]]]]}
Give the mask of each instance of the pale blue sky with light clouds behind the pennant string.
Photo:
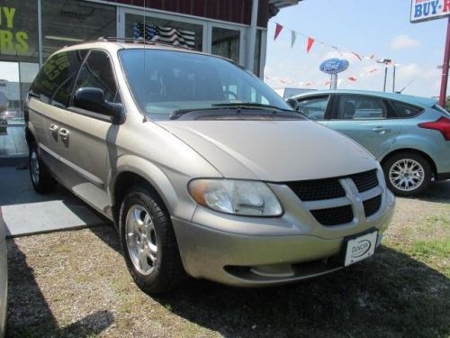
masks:
{"type": "MultiPolygon", "coordinates": [[[[437,65],[444,59],[447,19],[410,23],[410,5],[410,0],[303,0],[282,9],[268,24],[266,83],[274,89],[325,89],[329,75],[320,72],[320,63],[343,58],[350,66],[339,74],[339,88],[383,90],[384,67],[375,60],[392,59],[398,65],[395,90],[406,87],[404,94],[439,96],[442,69],[437,65]],[[274,41],[276,23],[283,30],[274,41]],[[292,31],[298,32],[293,47],[292,31]],[[309,53],[307,37],[316,40],[309,53]],[[375,56],[360,61],[349,51],[375,56]]],[[[392,67],[387,91],[392,91],[392,67]]]]}

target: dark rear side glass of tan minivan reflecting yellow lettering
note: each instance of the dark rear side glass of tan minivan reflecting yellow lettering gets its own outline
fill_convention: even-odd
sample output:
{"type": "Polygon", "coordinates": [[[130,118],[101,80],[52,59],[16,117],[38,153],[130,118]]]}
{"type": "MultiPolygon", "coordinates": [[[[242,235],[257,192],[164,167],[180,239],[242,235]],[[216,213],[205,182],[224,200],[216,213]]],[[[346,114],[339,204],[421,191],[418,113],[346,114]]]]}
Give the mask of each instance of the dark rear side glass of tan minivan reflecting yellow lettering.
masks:
{"type": "Polygon", "coordinates": [[[48,59],[31,86],[31,92],[47,104],[66,107],[86,50],[66,51],[48,59]]]}

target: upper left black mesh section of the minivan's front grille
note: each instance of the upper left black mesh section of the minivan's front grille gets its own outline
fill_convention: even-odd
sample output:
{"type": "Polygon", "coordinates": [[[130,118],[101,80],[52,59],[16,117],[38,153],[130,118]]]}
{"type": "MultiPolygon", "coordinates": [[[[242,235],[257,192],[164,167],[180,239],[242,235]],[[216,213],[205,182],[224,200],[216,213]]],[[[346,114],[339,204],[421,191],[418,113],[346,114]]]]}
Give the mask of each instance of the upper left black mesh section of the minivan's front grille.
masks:
{"type": "Polygon", "coordinates": [[[346,196],[338,178],[314,179],[286,183],[302,201],[318,201],[346,196]]]}

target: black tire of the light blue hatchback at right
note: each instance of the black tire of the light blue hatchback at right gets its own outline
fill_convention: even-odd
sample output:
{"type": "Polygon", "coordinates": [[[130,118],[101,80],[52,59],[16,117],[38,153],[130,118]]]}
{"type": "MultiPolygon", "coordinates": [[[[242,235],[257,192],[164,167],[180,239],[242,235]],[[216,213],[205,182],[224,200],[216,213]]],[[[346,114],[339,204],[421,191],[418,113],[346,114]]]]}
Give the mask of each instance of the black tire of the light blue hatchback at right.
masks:
{"type": "MultiPolygon", "coordinates": [[[[419,167],[415,167],[416,169],[419,169],[419,167]]],[[[428,162],[427,159],[425,159],[423,156],[413,153],[413,152],[400,152],[392,157],[388,158],[383,163],[383,171],[384,171],[384,177],[386,178],[386,185],[396,196],[402,196],[402,197],[410,197],[410,196],[418,196],[422,194],[428,187],[429,183],[431,182],[431,178],[433,177],[433,171],[431,169],[431,165],[428,162]],[[396,185],[392,182],[391,172],[392,169],[396,166],[396,163],[399,163],[399,161],[406,160],[412,162],[416,162],[419,164],[421,169],[423,170],[423,180],[419,184],[418,187],[396,187],[396,185]]],[[[398,185],[397,185],[398,186],[398,185]]]]}

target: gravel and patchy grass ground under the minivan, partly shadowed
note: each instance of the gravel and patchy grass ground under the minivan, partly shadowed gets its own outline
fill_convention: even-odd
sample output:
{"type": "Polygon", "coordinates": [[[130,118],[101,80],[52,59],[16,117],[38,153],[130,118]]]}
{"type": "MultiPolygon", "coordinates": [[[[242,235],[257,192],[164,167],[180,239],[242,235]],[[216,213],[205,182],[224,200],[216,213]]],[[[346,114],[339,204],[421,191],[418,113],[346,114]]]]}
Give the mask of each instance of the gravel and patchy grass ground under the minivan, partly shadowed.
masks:
{"type": "Polygon", "coordinates": [[[449,191],[399,198],[374,258],[277,288],[188,280],[148,297],[130,279],[112,227],[8,240],[9,335],[449,337],[449,191]],[[444,246],[423,253],[424,241],[444,246]]]}

